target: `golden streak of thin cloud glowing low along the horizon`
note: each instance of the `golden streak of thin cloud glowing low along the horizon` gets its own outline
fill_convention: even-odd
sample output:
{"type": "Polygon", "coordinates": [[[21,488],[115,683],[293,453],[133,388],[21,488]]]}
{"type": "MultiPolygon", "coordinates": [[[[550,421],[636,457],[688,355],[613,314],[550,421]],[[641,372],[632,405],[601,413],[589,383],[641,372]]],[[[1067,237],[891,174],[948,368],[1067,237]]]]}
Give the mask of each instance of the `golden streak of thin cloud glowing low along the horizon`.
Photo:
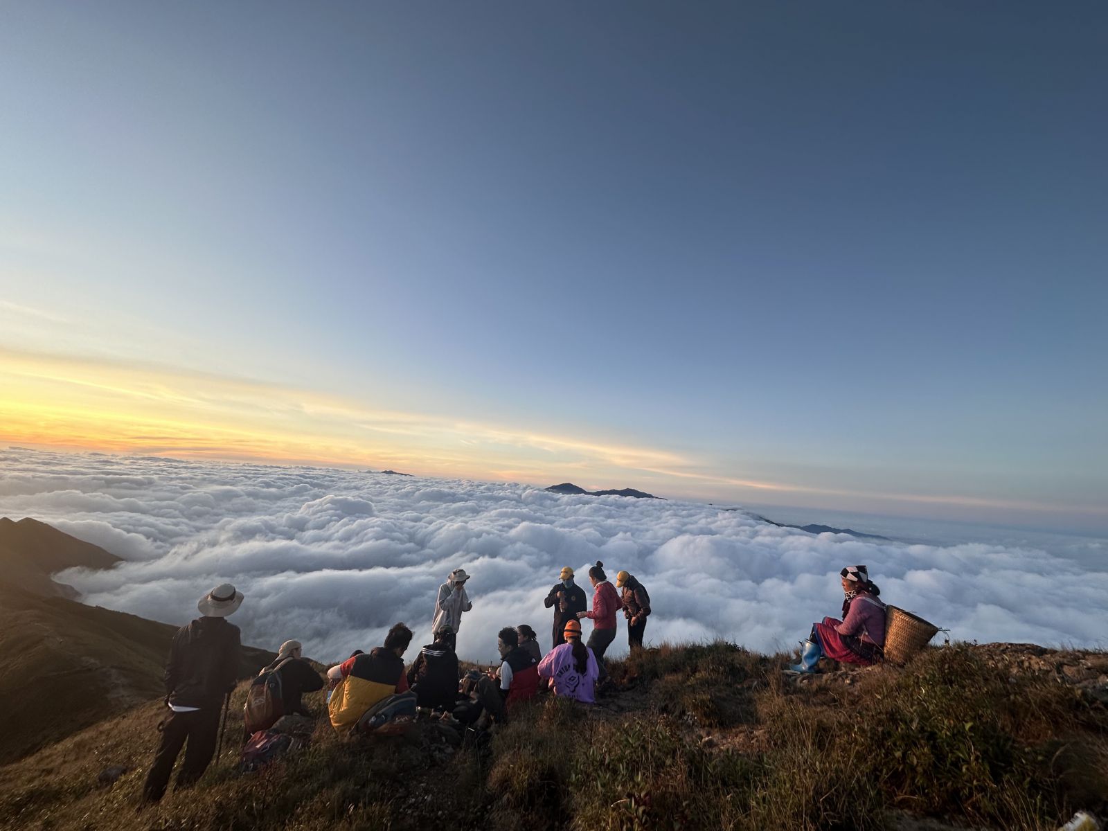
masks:
{"type": "MultiPolygon", "coordinates": [[[[356,397],[179,367],[0,345],[0,441],[142,455],[401,468],[437,476],[586,488],[634,485],[691,499],[864,506],[948,517],[1108,522],[1091,502],[837,486],[735,475],[702,451],[588,434],[584,423],[521,425],[372,407],[356,397]]],[[[741,468],[741,463],[737,466],[741,468]]],[[[827,479],[825,472],[822,476],[827,479]]]]}

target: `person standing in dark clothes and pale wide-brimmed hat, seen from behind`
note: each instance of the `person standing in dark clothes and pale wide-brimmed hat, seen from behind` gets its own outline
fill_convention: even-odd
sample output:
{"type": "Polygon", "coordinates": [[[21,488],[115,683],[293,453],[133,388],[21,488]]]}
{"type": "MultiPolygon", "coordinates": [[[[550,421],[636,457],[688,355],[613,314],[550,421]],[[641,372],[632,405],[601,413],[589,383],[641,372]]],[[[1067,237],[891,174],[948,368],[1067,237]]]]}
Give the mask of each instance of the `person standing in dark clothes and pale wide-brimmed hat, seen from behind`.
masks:
{"type": "Polygon", "coordinates": [[[235,687],[238,669],[238,627],[225,619],[243,604],[243,593],[229,583],[216,586],[196,604],[203,617],[182,626],[173,637],[165,668],[165,701],[170,717],[162,742],[146,774],[143,801],[157,802],[185,747],[176,788],[187,788],[203,776],[215,753],[219,710],[235,687]]]}

